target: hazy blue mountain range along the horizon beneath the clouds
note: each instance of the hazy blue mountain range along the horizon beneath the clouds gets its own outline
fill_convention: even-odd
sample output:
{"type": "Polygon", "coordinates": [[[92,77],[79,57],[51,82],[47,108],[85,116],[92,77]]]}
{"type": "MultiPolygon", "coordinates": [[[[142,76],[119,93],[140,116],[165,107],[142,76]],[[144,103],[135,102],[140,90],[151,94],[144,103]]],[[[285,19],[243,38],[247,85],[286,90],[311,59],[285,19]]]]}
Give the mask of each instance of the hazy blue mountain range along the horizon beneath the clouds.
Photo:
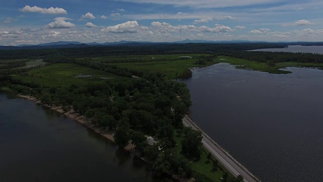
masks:
{"type": "MultiPolygon", "coordinates": [[[[143,45],[156,45],[156,44],[173,44],[173,43],[288,43],[288,44],[309,44],[311,42],[266,42],[266,41],[251,41],[251,40],[180,40],[173,42],[150,42],[150,41],[115,41],[115,42],[89,42],[82,43],[79,41],[57,41],[41,44],[21,44],[17,46],[2,46],[0,50],[21,50],[21,49],[58,49],[58,48],[86,48],[86,47],[101,47],[101,46],[143,46],[143,45]]],[[[312,42],[313,45],[322,44],[322,42],[312,42]]]]}

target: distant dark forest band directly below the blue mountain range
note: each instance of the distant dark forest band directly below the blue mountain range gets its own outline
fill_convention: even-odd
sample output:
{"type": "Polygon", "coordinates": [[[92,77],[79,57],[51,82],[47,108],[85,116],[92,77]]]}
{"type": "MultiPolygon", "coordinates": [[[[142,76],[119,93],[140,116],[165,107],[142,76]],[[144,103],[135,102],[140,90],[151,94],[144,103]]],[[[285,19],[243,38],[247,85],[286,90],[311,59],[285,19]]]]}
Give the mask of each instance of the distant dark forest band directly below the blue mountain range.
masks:
{"type": "Polygon", "coordinates": [[[157,44],[150,46],[110,46],[88,48],[63,48],[40,50],[0,50],[2,59],[43,58],[47,55],[60,54],[73,58],[119,56],[119,55],[161,55],[161,54],[210,54],[217,52],[246,51],[265,48],[284,48],[287,45],[275,43],[187,43],[187,44],[157,44]]]}

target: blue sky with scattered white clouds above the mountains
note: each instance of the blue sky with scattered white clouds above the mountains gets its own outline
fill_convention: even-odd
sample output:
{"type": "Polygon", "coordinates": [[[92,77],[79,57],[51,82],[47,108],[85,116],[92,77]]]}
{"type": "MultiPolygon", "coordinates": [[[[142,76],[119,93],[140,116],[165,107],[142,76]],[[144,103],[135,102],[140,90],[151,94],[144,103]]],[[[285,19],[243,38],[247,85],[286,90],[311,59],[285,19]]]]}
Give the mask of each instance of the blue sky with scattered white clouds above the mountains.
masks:
{"type": "Polygon", "coordinates": [[[321,0],[0,0],[0,45],[323,41],[321,0]]]}

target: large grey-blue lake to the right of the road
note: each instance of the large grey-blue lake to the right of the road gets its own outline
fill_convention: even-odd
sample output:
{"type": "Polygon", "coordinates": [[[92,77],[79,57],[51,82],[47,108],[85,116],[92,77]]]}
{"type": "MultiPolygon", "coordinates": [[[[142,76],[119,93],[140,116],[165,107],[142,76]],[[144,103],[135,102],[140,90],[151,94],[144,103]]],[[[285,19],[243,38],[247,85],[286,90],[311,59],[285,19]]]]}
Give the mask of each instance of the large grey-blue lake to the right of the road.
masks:
{"type": "Polygon", "coordinates": [[[322,181],[323,71],[193,70],[191,118],[262,181],[322,181]]]}

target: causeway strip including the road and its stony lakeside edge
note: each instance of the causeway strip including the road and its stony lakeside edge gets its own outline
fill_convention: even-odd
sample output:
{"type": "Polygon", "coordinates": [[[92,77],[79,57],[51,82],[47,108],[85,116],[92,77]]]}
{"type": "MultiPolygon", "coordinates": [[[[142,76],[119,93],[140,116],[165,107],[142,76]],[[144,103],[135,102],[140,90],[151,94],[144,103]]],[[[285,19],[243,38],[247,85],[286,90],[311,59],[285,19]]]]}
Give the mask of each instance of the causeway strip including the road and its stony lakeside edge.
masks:
{"type": "Polygon", "coordinates": [[[229,156],[224,149],[219,145],[214,144],[215,142],[209,138],[209,136],[204,133],[190,118],[185,116],[183,118],[183,124],[185,126],[191,127],[195,130],[200,130],[202,132],[202,144],[203,146],[214,156],[220,163],[222,163],[233,175],[236,177],[240,174],[243,176],[245,182],[260,182],[260,180],[251,174],[244,166],[242,166],[238,161],[236,161],[232,156],[229,156]]]}

